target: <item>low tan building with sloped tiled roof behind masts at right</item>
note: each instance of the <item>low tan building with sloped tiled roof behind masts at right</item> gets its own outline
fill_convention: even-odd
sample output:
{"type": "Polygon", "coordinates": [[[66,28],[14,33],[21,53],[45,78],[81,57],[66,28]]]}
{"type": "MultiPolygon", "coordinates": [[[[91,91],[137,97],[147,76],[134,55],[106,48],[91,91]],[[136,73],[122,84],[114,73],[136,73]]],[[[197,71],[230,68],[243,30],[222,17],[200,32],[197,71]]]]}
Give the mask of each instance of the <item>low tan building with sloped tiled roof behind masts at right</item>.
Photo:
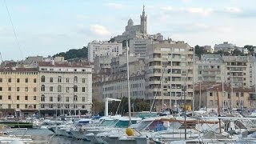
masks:
{"type": "Polygon", "coordinates": [[[254,90],[246,87],[232,87],[228,83],[197,83],[195,86],[194,106],[195,110],[207,108],[207,110],[218,109],[218,98],[220,108],[223,110],[239,109],[248,110],[255,108],[254,90]],[[254,101],[254,102],[253,102],[254,101]]]}

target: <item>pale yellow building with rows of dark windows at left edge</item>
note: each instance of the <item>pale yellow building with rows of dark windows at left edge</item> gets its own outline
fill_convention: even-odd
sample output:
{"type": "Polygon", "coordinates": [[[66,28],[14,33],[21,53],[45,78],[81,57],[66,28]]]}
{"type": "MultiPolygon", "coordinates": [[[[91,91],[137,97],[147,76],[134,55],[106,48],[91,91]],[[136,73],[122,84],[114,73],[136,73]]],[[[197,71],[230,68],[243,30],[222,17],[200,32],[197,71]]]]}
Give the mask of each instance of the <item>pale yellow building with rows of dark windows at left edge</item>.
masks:
{"type": "Polygon", "coordinates": [[[13,68],[0,70],[1,116],[26,117],[39,110],[38,70],[13,68]]]}

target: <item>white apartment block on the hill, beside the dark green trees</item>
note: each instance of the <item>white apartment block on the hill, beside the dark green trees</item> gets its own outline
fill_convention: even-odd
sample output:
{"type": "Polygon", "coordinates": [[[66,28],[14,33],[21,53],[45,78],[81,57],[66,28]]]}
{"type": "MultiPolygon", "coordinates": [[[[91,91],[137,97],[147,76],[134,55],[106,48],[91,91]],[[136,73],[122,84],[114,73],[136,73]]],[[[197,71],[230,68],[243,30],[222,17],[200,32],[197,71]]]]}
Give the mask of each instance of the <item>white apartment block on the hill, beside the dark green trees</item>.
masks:
{"type": "Polygon", "coordinates": [[[94,62],[97,56],[122,54],[122,43],[93,41],[88,43],[88,60],[94,62]]]}

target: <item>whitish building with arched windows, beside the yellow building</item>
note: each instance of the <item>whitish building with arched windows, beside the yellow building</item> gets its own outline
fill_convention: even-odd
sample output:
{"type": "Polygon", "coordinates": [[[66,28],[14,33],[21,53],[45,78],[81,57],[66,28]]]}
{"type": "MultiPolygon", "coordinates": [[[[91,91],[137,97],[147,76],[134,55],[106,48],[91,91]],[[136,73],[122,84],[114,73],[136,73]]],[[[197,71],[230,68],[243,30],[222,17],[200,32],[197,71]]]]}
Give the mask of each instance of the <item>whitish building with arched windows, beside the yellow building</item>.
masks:
{"type": "Polygon", "coordinates": [[[92,106],[92,68],[82,63],[39,62],[40,113],[86,114],[92,106]]]}

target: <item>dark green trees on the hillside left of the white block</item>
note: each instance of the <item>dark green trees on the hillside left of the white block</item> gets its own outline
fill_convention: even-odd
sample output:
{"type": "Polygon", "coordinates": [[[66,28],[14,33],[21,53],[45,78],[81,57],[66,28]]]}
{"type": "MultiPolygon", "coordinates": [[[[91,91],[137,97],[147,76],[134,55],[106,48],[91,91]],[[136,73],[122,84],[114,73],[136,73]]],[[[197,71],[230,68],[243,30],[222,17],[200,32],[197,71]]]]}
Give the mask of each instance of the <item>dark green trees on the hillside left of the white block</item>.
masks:
{"type": "Polygon", "coordinates": [[[59,54],[55,54],[54,57],[64,57],[65,59],[72,58],[87,58],[88,48],[83,46],[82,49],[71,49],[67,52],[61,52],[59,54]]]}

